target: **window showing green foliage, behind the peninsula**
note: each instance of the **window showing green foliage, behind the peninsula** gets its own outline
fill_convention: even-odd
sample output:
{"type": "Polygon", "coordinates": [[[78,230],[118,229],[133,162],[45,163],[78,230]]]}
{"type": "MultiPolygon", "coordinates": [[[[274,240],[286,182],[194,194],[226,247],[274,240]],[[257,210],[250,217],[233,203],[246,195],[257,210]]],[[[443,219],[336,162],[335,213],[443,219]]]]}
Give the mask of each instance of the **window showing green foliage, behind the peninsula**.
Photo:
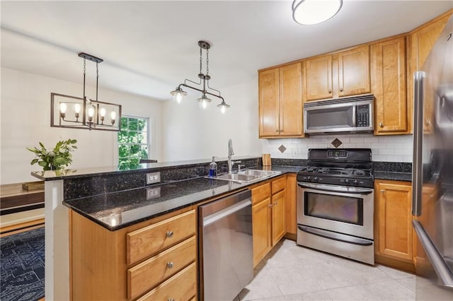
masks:
{"type": "Polygon", "coordinates": [[[148,119],[140,117],[121,118],[121,131],[118,133],[118,168],[134,168],[140,159],[149,158],[148,119]]]}

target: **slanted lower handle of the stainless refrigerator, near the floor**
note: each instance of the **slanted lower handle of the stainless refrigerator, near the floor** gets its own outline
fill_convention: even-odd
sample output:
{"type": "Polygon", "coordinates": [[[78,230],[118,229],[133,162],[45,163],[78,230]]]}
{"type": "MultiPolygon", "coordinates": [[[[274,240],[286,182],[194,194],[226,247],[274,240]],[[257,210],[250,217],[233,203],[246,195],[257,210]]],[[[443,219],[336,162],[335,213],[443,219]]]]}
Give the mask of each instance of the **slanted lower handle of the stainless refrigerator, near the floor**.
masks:
{"type": "Polygon", "coordinates": [[[439,252],[437,252],[437,249],[434,244],[432,244],[430,237],[426,234],[423,226],[418,222],[418,220],[412,220],[412,225],[415,232],[417,232],[418,239],[423,245],[423,249],[425,249],[425,253],[430,259],[432,268],[434,268],[434,271],[442,282],[442,285],[447,288],[453,288],[453,274],[449,271],[449,268],[447,264],[445,264],[444,259],[442,259],[442,256],[440,256],[439,252]]]}

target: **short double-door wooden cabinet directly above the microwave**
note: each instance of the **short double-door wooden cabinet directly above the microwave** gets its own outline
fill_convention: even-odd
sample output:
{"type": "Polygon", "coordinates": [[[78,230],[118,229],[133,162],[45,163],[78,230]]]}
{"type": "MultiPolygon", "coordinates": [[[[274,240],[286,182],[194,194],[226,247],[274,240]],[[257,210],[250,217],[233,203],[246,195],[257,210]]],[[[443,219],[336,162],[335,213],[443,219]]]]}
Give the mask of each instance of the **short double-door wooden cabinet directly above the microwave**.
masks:
{"type": "Polygon", "coordinates": [[[304,65],[304,100],[322,100],[369,93],[369,47],[307,59],[304,65]]]}

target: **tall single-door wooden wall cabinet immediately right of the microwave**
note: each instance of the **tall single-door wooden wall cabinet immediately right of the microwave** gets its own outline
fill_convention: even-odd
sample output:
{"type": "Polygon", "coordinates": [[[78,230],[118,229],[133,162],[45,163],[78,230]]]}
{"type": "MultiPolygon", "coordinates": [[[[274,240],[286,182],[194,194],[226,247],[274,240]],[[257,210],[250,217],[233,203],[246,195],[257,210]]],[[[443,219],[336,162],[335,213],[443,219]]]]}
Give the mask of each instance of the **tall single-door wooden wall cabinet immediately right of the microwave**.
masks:
{"type": "Polygon", "coordinates": [[[406,39],[371,45],[374,135],[408,134],[406,39]]]}

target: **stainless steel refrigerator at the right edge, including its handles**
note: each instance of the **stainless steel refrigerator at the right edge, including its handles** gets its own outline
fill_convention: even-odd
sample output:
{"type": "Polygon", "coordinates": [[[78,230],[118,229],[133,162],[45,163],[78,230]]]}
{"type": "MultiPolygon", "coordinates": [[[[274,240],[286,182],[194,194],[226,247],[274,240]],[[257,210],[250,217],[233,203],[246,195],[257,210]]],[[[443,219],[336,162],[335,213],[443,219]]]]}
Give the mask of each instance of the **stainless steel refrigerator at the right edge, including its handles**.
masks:
{"type": "Polygon", "coordinates": [[[453,17],[414,74],[417,300],[453,300],[453,17]],[[429,280],[429,281],[428,281],[429,280]]]}

